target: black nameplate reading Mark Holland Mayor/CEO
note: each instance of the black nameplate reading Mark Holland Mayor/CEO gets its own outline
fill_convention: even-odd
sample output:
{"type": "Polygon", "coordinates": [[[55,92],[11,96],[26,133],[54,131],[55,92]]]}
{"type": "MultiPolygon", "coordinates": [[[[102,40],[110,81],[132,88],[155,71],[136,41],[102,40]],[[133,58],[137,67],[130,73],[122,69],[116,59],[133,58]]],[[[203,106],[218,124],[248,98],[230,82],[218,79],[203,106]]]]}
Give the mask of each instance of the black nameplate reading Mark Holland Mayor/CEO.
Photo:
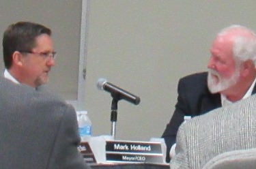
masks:
{"type": "Polygon", "coordinates": [[[160,142],[106,141],[106,162],[163,163],[160,142]]]}

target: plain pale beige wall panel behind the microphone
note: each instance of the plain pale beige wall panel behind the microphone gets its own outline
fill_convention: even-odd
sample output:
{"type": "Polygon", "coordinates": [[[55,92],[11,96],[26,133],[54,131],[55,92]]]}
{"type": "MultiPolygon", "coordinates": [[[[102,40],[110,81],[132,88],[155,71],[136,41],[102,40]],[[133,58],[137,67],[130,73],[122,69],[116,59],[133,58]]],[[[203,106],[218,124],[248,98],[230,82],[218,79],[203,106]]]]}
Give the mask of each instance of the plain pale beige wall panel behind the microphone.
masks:
{"type": "MultiPolygon", "coordinates": [[[[160,137],[173,113],[180,77],[206,70],[216,33],[231,24],[256,30],[255,1],[89,1],[85,107],[94,135],[111,132],[104,77],[139,95],[118,104],[117,139],[160,137]]],[[[196,85],[196,84],[195,84],[196,85]]]]}

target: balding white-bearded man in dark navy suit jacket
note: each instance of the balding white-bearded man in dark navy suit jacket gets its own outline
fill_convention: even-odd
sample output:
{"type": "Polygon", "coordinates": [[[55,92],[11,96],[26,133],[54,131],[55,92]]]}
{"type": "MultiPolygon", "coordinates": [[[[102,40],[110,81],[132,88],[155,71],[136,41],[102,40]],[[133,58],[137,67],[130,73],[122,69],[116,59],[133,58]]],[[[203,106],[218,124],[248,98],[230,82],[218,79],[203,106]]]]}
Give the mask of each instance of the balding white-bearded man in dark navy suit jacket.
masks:
{"type": "Polygon", "coordinates": [[[175,111],[162,134],[167,145],[167,162],[170,149],[175,149],[177,129],[184,116],[195,117],[256,93],[255,47],[253,31],[231,25],[214,39],[209,72],[180,79],[175,111]]]}

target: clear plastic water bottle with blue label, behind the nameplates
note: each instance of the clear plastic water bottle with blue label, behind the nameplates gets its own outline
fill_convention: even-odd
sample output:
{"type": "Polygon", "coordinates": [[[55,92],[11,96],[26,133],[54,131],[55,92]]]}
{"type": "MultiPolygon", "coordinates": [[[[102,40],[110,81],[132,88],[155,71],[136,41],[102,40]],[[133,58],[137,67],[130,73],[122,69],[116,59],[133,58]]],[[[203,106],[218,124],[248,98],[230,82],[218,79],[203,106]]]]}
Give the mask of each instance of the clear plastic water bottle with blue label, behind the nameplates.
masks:
{"type": "Polygon", "coordinates": [[[77,112],[77,120],[79,123],[79,134],[81,141],[89,141],[89,138],[91,137],[91,120],[87,115],[87,111],[77,112]]]}

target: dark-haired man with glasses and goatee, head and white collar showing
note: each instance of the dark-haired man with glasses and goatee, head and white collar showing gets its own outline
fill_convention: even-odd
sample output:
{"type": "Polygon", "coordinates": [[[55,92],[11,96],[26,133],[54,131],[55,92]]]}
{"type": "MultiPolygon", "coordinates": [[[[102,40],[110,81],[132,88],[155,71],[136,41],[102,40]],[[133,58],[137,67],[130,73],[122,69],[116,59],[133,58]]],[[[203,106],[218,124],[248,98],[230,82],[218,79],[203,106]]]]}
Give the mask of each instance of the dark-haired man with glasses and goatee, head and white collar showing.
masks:
{"type": "Polygon", "coordinates": [[[40,87],[55,63],[51,29],[34,22],[16,22],[3,33],[5,78],[40,87]]]}

